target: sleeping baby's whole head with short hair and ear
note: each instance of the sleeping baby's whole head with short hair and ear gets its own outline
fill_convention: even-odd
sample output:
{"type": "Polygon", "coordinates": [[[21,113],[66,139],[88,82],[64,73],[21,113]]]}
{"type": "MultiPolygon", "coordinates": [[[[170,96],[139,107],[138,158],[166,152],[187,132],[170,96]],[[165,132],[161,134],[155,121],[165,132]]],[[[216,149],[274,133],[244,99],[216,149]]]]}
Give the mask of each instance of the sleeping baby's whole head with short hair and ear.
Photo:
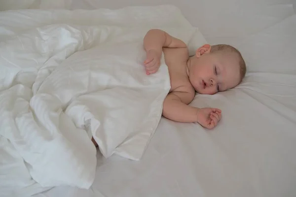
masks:
{"type": "Polygon", "coordinates": [[[245,77],[246,63],[230,45],[205,44],[189,57],[187,73],[196,92],[213,95],[237,86],[245,77]]]}

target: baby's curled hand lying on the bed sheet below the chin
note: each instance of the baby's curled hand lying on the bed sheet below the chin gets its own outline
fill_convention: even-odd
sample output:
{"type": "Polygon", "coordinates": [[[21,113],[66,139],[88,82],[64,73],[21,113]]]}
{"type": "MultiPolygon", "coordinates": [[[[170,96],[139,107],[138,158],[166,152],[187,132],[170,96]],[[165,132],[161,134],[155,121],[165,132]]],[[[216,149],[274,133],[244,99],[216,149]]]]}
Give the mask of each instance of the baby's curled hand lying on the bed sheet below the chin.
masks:
{"type": "Polygon", "coordinates": [[[213,129],[221,119],[221,112],[217,108],[200,108],[197,112],[197,122],[207,129],[213,129]]]}

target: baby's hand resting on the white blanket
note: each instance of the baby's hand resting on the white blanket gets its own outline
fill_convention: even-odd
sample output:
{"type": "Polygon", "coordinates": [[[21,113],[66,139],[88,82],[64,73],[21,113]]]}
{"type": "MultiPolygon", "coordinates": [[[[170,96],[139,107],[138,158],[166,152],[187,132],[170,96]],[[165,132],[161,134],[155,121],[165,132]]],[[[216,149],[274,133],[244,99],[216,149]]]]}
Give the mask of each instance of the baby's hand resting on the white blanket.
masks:
{"type": "Polygon", "coordinates": [[[161,53],[154,49],[147,52],[146,60],[144,61],[144,66],[146,67],[146,74],[152,74],[157,72],[160,66],[161,53]]]}

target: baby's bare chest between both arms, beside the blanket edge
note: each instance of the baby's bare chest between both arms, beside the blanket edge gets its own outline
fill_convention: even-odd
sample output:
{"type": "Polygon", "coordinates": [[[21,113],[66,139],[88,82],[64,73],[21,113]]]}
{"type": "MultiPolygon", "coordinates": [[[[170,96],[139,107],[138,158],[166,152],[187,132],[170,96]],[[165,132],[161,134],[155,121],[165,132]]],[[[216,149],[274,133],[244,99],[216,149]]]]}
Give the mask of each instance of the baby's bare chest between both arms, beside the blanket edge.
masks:
{"type": "Polygon", "coordinates": [[[170,74],[170,92],[183,92],[188,88],[193,89],[186,72],[188,50],[186,48],[163,48],[163,53],[170,74]]]}

